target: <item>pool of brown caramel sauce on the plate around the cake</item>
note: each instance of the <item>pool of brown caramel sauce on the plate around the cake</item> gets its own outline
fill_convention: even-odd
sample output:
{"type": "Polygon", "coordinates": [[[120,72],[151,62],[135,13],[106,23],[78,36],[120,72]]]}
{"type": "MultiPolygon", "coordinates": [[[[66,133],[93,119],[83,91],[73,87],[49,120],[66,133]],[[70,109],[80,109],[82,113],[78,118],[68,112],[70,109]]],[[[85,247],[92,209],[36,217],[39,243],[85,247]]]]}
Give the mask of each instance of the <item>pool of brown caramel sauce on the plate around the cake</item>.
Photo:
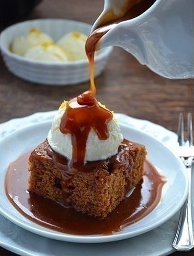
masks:
{"type": "Polygon", "coordinates": [[[43,227],[71,234],[110,234],[147,216],[161,199],[164,178],[152,164],[145,161],[142,181],[131,191],[131,195],[125,197],[106,219],[89,217],[28,192],[29,155],[30,152],[10,164],[5,190],[20,214],[43,227]]]}

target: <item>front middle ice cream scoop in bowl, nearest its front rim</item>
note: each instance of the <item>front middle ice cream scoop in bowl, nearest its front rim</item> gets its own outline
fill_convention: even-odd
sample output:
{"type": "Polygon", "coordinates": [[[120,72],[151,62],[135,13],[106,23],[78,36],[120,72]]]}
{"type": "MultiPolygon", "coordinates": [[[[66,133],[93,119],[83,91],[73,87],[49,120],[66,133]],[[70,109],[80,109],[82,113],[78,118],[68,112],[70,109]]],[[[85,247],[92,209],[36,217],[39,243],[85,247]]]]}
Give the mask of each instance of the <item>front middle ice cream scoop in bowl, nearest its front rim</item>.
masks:
{"type": "Polygon", "coordinates": [[[43,44],[33,46],[24,55],[26,58],[33,60],[64,62],[67,61],[65,52],[58,46],[44,42],[43,44]]]}

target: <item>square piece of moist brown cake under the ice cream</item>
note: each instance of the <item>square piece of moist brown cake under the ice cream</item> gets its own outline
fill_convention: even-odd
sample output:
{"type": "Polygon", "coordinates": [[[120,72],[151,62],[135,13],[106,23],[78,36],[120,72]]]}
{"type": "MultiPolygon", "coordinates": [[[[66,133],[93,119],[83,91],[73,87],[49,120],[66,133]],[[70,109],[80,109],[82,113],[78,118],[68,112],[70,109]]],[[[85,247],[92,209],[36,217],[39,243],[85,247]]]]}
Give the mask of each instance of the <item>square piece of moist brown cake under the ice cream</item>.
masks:
{"type": "MultiPolygon", "coordinates": [[[[115,156],[105,161],[88,162],[82,172],[70,174],[64,180],[64,173],[56,166],[51,152],[45,140],[31,153],[28,190],[63,203],[65,183],[69,203],[76,210],[101,219],[106,218],[129,189],[140,182],[146,156],[143,145],[124,140],[115,156]]],[[[61,158],[67,162],[65,157],[61,158]]]]}

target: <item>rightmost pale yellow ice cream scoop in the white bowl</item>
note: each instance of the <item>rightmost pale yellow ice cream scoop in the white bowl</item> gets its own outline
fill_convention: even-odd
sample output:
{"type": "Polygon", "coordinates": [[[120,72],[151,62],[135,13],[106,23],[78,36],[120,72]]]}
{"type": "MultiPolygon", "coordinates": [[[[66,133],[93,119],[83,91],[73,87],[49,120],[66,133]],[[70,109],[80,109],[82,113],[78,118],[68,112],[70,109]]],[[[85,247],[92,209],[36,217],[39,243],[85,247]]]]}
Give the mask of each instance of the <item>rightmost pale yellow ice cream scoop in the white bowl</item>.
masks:
{"type": "Polygon", "coordinates": [[[87,36],[77,31],[64,35],[56,44],[67,54],[68,60],[86,59],[85,42],[87,36]]]}

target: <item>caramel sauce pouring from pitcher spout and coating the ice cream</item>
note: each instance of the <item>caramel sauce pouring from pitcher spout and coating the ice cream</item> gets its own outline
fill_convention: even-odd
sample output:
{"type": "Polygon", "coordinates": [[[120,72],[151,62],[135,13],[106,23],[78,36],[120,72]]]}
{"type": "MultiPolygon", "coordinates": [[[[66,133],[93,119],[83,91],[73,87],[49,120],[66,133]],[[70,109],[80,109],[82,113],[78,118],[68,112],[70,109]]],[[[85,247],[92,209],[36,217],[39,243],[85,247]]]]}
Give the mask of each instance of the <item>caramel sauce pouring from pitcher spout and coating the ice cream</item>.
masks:
{"type": "Polygon", "coordinates": [[[100,38],[107,33],[112,24],[128,20],[142,14],[153,4],[153,0],[127,1],[120,15],[107,14],[106,22],[97,28],[86,41],[86,55],[90,67],[90,89],[67,103],[66,110],[61,119],[60,131],[70,133],[72,138],[73,155],[72,164],[84,164],[86,142],[89,131],[94,129],[100,140],[106,140],[109,136],[107,123],[112,119],[112,113],[102,108],[94,95],[96,87],[94,83],[94,53],[100,38]],[[134,6],[133,6],[134,5],[134,6]],[[109,22],[107,22],[107,18],[109,22]]]}

